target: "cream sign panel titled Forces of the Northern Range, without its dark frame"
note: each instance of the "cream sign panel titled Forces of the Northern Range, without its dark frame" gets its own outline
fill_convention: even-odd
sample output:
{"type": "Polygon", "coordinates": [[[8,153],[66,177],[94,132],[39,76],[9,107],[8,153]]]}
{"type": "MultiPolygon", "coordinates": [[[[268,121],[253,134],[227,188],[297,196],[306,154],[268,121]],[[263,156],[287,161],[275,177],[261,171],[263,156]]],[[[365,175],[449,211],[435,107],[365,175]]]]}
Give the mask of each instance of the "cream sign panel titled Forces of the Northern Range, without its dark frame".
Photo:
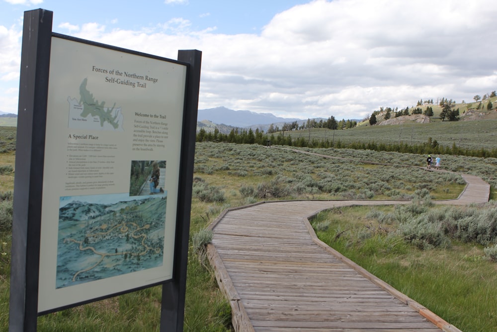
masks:
{"type": "Polygon", "coordinates": [[[52,37],[38,313],[172,278],[185,81],[52,37]]]}

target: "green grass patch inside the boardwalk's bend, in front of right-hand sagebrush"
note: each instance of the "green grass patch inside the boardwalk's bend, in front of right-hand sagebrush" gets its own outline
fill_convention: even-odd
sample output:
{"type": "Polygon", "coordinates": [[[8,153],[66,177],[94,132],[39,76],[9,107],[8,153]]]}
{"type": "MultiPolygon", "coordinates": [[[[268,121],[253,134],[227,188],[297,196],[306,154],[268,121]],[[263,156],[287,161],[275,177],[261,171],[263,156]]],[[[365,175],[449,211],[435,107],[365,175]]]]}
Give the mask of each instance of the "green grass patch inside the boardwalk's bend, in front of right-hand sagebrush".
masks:
{"type": "Polygon", "coordinates": [[[420,250],[396,235],[397,224],[375,218],[394,210],[339,208],[311,222],[329,225],[317,230],[324,242],[460,330],[495,331],[497,266],[483,246],[453,239],[449,248],[420,250]]]}

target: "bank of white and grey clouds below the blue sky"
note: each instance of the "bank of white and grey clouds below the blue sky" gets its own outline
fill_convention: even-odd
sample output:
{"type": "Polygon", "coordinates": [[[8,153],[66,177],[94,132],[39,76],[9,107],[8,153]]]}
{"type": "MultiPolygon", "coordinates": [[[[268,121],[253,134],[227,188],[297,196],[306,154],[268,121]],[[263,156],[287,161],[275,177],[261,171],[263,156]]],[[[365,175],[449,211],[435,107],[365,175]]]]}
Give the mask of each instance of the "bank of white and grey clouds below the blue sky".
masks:
{"type": "MultiPolygon", "coordinates": [[[[173,59],[178,49],[201,50],[201,109],[341,119],[496,90],[495,17],[494,0],[316,0],[275,15],[260,34],[194,31],[181,17],[134,30],[61,27],[173,59]]],[[[0,26],[0,78],[18,72],[19,36],[0,26]]]]}

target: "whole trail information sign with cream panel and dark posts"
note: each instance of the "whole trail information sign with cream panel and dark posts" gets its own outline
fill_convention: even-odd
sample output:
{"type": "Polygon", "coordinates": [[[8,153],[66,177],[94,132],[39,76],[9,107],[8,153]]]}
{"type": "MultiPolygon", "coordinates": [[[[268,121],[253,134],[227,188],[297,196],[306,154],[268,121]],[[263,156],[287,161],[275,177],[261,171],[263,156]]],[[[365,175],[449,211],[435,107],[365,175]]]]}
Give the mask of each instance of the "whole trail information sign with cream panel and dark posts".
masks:
{"type": "MultiPolygon", "coordinates": [[[[51,30],[51,12],[39,9],[26,12],[24,33],[33,15],[40,22],[49,17],[51,30]]],[[[41,75],[19,96],[31,94],[33,101],[31,110],[19,102],[18,150],[24,145],[30,154],[16,158],[16,175],[27,171],[30,183],[14,185],[14,195],[27,191],[29,197],[14,197],[12,264],[21,266],[13,267],[12,282],[25,300],[15,299],[11,288],[10,325],[18,324],[16,301],[24,302],[26,321],[34,306],[41,315],[166,282],[183,285],[171,297],[183,292],[184,306],[184,281],[178,279],[186,273],[184,206],[191,201],[195,133],[190,129],[196,122],[199,67],[192,78],[191,63],[51,31],[47,36],[44,29],[37,31],[38,56],[30,68],[41,75]],[[189,80],[196,81],[193,90],[189,80]],[[23,127],[22,121],[43,129],[23,127]],[[19,243],[30,236],[34,244],[22,249],[19,243]],[[28,266],[33,255],[35,267],[28,266]]],[[[199,52],[186,52],[198,56],[199,66],[199,52]]],[[[21,70],[21,90],[22,75],[21,70]]],[[[163,323],[171,316],[164,313],[167,300],[163,297],[163,323]]],[[[176,328],[162,331],[179,329],[179,316],[173,319],[180,323],[169,324],[176,328]]]]}

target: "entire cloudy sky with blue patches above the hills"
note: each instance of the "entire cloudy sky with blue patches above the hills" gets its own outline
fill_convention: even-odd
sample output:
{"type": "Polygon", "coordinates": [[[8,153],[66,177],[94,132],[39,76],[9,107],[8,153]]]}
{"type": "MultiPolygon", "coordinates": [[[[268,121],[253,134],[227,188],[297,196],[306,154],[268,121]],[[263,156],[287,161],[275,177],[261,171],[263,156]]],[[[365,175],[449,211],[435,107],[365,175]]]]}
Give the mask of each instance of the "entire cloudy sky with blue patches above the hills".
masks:
{"type": "Polygon", "coordinates": [[[495,0],[0,0],[0,111],[17,113],[25,10],[57,33],[202,51],[199,109],[363,119],[497,90],[495,0]]]}

